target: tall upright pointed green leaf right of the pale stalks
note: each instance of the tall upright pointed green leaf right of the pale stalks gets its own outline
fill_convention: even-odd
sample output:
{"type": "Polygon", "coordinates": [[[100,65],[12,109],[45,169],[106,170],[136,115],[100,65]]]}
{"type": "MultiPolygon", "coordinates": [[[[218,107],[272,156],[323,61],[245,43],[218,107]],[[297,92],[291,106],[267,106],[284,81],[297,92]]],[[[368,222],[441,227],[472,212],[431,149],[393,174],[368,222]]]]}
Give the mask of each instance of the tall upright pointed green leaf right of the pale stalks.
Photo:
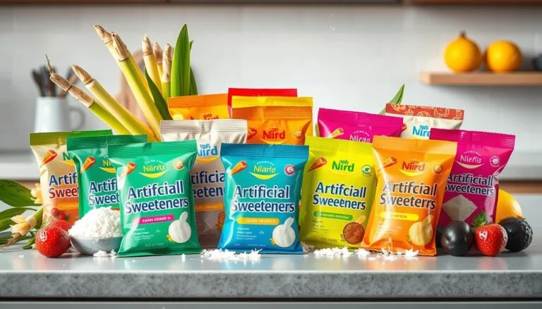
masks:
{"type": "Polygon", "coordinates": [[[190,94],[190,39],[188,27],[183,25],[173,53],[171,63],[171,96],[190,94]]]}

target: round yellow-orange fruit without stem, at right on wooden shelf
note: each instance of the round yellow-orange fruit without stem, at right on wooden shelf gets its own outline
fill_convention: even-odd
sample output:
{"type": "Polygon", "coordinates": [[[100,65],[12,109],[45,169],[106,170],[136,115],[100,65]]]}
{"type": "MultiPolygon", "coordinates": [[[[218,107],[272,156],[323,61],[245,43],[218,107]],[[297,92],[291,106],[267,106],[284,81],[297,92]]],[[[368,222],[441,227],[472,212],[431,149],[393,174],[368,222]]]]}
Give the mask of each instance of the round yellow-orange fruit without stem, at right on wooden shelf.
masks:
{"type": "Polygon", "coordinates": [[[495,73],[513,72],[522,65],[522,51],[516,44],[502,40],[493,42],[484,55],[486,66],[495,73]]]}

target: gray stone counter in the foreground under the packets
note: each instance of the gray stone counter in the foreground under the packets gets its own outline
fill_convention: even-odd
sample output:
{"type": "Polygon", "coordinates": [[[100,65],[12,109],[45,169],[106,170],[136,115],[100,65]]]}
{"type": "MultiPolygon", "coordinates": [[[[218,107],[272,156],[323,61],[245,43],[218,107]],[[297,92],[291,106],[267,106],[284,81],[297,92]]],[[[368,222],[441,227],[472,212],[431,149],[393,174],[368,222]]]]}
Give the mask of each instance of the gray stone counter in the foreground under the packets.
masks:
{"type": "MultiPolygon", "coordinates": [[[[540,196],[529,204],[531,224],[540,217],[540,196]],[[535,211],[536,210],[536,211],[535,211]]],[[[118,299],[533,299],[542,298],[541,226],[524,252],[496,258],[453,256],[319,258],[262,256],[218,261],[199,255],[93,258],[76,253],[45,258],[10,248],[0,253],[0,300],[118,299]]],[[[1,306],[0,306],[1,307],[1,306]]]]}

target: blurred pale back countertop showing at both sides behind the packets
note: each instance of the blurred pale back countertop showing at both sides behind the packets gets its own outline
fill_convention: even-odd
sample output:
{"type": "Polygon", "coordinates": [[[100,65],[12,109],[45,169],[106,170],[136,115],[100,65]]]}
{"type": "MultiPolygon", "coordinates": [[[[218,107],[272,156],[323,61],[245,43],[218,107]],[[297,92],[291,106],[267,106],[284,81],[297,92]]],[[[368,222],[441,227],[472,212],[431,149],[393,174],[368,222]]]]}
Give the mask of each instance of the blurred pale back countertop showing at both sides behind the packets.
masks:
{"type": "MultiPolygon", "coordinates": [[[[537,152],[512,153],[510,162],[499,178],[504,180],[542,179],[541,155],[537,152]]],[[[0,179],[37,180],[39,178],[40,171],[30,150],[23,153],[0,153],[0,179]]]]}

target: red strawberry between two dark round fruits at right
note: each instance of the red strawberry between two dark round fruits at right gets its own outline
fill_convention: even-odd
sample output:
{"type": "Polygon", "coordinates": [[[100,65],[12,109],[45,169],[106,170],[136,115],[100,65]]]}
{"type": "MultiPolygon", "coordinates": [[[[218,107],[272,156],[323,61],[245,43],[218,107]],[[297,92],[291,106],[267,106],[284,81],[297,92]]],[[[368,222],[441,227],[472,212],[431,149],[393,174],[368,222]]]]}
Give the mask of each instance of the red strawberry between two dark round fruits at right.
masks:
{"type": "Polygon", "coordinates": [[[497,256],[508,241],[506,230],[498,225],[483,225],[474,231],[476,246],[484,256],[497,256]]]}

